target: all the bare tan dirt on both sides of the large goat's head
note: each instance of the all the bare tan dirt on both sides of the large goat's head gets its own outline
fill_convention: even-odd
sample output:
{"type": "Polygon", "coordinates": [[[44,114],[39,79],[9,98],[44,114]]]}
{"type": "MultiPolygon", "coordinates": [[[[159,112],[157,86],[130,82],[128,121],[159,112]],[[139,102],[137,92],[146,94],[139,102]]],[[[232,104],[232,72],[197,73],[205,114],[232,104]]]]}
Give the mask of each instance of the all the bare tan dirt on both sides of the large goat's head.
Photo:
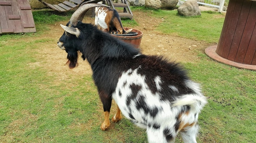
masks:
{"type": "MultiPolygon", "coordinates": [[[[198,53],[203,52],[203,50],[209,46],[201,41],[194,41],[156,32],[154,31],[155,28],[163,21],[161,18],[150,17],[148,16],[148,13],[140,11],[134,11],[133,14],[134,19],[139,25],[132,28],[143,32],[140,48],[144,54],[163,55],[170,58],[170,60],[177,62],[194,62],[199,60],[197,56],[198,53]]],[[[83,22],[94,23],[94,18],[85,17],[83,22]]],[[[35,43],[35,46],[38,47],[38,55],[36,56],[43,58],[43,60],[37,63],[32,63],[29,66],[33,67],[40,65],[49,71],[49,75],[60,76],[59,78],[56,78],[56,83],[68,78],[65,73],[70,72],[70,69],[65,65],[67,62],[67,53],[57,47],[57,41],[64,32],[60,24],[65,25],[66,23],[67,21],[57,22],[56,24],[49,26],[50,30],[44,35],[33,37],[32,39],[25,39],[26,41],[31,42],[44,39],[42,43],[35,43]]],[[[79,66],[72,69],[72,72],[76,73],[76,75],[92,73],[90,65],[81,58],[79,58],[79,66]]]]}

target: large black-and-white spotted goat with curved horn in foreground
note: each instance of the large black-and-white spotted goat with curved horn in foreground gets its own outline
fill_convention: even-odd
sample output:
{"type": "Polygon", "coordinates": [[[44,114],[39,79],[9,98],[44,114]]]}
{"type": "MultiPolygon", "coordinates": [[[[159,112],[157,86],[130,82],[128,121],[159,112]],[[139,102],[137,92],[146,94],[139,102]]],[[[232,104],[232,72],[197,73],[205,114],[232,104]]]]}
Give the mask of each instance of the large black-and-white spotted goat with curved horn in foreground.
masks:
{"type": "Polygon", "coordinates": [[[85,4],[72,15],[58,41],[67,52],[70,68],[77,65],[78,52],[92,67],[92,77],[103,103],[105,119],[101,130],[110,126],[112,99],[117,103],[113,122],[121,112],[134,124],[146,128],[149,143],[174,142],[179,133],[185,143],[196,143],[198,115],[207,99],[200,85],[188,78],[179,64],[162,56],[147,56],[139,49],[78,22],[83,11],[99,4],[85,4]]]}

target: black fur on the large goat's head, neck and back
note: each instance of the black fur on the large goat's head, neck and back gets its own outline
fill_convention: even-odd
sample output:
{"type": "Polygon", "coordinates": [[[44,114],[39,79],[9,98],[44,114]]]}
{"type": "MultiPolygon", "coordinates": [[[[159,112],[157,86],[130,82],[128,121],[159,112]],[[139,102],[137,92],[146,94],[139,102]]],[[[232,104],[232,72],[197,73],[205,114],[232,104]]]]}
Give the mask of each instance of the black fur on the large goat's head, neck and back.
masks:
{"type": "MultiPolygon", "coordinates": [[[[152,92],[159,92],[155,89],[155,85],[152,85],[154,82],[150,81],[155,78],[155,75],[161,76],[165,83],[162,86],[173,85],[178,88],[179,93],[175,93],[170,88],[163,87],[165,90],[161,91],[162,100],[174,101],[181,94],[193,92],[184,86],[184,80],[189,78],[179,64],[171,63],[162,56],[141,54],[133,58],[140,54],[139,49],[98,30],[96,26],[78,22],[77,26],[74,27],[81,30],[81,35],[78,38],[75,35],[66,36],[64,32],[59,40],[64,43],[70,67],[77,66],[74,59],[78,58],[77,52],[80,51],[83,54],[83,59],[87,59],[90,63],[95,85],[99,93],[103,92],[104,96],[108,95],[111,98],[122,72],[128,69],[136,69],[139,66],[143,70],[138,70],[138,74],[147,75],[146,83],[150,86],[149,89],[152,92]],[[172,96],[170,96],[170,93],[172,96]]],[[[108,100],[108,102],[111,101],[108,100]]]]}

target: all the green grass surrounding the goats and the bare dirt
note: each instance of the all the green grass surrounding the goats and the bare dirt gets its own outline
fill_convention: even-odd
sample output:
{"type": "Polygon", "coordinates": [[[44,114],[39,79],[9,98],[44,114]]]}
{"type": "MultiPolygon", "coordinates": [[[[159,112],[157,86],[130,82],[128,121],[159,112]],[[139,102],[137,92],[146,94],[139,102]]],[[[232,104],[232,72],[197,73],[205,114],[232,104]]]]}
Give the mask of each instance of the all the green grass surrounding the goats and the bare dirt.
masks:
{"type": "MultiPolygon", "coordinates": [[[[201,17],[189,18],[176,15],[177,11],[154,11],[141,7],[133,10],[156,17],[161,15],[164,22],[156,29],[160,32],[168,29],[169,34],[209,43],[218,42],[224,20],[223,17],[222,22],[211,20],[214,15],[220,16],[219,13],[202,13],[201,17]],[[209,35],[209,31],[203,30],[205,25],[198,24],[198,21],[202,21],[202,25],[207,23],[207,27],[218,31],[218,34],[202,38],[198,31],[202,35],[209,35]],[[182,24],[182,29],[177,24],[182,24]],[[196,28],[191,25],[200,25],[198,27],[201,28],[191,32],[196,28]]],[[[102,132],[99,126],[103,121],[103,110],[91,75],[74,76],[76,73],[67,69],[63,71],[66,78],[58,79],[61,73],[49,74],[52,71],[44,66],[47,65],[45,57],[38,53],[38,44],[55,39],[43,37],[32,42],[25,41],[28,37],[42,35],[45,32],[43,26],[68,20],[70,13],[63,16],[51,11],[34,11],[33,15],[38,32],[0,35],[0,142],[147,142],[145,130],[125,118],[117,124],[112,123],[113,128],[102,132]],[[35,66],[36,63],[39,63],[38,66],[35,66]]],[[[201,83],[209,102],[199,116],[201,128],[198,142],[254,143],[256,72],[224,65],[200,51],[198,53],[200,60],[197,62],[182,63],[191,78],[201,83]]],[[[181,142],[181,139],[178,137],[176,142],[181,142]]]]}

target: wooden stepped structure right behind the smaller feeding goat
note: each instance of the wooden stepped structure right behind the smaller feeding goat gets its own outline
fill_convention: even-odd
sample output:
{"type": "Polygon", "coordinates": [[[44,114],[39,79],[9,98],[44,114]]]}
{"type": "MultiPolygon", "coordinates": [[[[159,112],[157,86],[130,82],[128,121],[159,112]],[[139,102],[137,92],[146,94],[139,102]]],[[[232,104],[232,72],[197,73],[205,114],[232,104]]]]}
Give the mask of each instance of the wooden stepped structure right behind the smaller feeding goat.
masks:
{"type": "Polygon", "coordinates": [[[115,9],[116,7],[124,8],[123,13],[118,12],[119,16],[130,18],[130,20],[132,20],[133,14],[127,0],[121,0],[122,3],[113,3],[112,0],[106,0],[106,1],[108,3],[108,6],[110,6],[112,9],[115,9]]]}

